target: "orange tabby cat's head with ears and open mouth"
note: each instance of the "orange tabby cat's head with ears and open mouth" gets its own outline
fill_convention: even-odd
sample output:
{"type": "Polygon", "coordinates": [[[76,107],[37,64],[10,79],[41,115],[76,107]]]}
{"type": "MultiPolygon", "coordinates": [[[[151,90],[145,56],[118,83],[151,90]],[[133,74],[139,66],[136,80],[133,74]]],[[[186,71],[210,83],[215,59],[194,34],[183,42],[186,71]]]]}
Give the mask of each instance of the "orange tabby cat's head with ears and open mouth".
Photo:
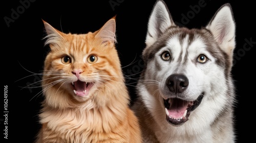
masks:
{"type": "Polygon", "coordinates": [[[79,35],[64,34],[47,22],[44,24],[46,44],[51,48],[42,81],[48,102],[100,100],[97,95],[123,80],[115,49],[114,19],[94,33],[79,35]]]}

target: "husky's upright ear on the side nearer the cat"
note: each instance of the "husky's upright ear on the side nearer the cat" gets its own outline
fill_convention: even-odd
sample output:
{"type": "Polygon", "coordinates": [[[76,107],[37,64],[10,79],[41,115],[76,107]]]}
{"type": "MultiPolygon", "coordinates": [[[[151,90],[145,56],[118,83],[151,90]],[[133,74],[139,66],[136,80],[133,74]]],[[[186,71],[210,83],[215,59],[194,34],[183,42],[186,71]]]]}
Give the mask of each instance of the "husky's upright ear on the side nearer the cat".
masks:
{"type": "Polygon", "coordinates": [[[146,47],[151,46],[156,39],[169,27],[175,25],[166,4],[158,0],[147,23],[146,47]]]}

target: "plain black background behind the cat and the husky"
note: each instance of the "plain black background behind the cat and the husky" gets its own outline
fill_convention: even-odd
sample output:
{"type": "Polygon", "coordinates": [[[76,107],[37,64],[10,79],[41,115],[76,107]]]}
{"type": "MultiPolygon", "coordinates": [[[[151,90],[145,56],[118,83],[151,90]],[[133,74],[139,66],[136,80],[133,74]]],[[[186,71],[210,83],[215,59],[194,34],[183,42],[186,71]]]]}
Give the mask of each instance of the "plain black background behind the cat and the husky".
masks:
{"type": "MultiPolygon", "coordinates": [[[[236,64],[232,75],[236,85],[237,101],[235,122],[238,142],[254,139],[255,121],[255,6],[246,1],[166,1],[174,21],[189,28],[205,26],[215,12],[225,3],[230,3],[236,21],[236,64]],[[197,12],[199,2],[205,6],[197,12]],[[194,13],[194,15],[193,15],[194,13]],[[186,22],[182,14],[190,14],[186,22]],[[246,42],[252,42],[250,45],[246,42]],[[244,47],[245,45],[245,47],[244,47]]],[[[3,1],[1,4],[1,51],[3,84],[8,85],[8,139],[4,139],[4,112],[0,115],[1,139],[6,142],[32,142],[39,129],[37,113],[40,109],[40,75],[47,47],[42,37],[42,19],[65,33],[88,33],[98,30],[111,17],[116,17],[116,48],[120,55],[123,72],[131,99],[135,99],[134,85],[142,70],[141,52],[145,47],[147,20],[155,1],[3,1]],[[23,6],[22,2],[29,2],[23,6]],[[112,5],[111,5],[112,4],[112,5]],[[13,14],[13,13],[16,13],[13,14]],[[12,19],[6,22],[6,19],[12,19]],[[8,25],[9,24],[9,25],[8,25]],[[27,88],[23,88],[27,87],[27,88]]],[[[4,96],[2,97],[4,107],[4,96]]],[[[132,102],[131,102],[132,104],[132,102]]],[[[207,142],[207,141],[205,141],[207,142]]]]}

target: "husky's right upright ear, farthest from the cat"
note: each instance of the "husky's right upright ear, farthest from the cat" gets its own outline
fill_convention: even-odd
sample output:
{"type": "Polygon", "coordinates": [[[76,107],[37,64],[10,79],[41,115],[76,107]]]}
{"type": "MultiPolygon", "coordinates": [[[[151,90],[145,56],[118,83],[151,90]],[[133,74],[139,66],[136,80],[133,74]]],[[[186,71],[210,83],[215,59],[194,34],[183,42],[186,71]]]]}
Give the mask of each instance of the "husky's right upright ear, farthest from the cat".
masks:
{"type": "Polygon", "coordinates": [[[230,4],[222,5],[206,28],[211,31],[220,47],[229,55],[230,62],[232,62],[233,50],[236,46],[236,24],[234,23],[230,4]]]}

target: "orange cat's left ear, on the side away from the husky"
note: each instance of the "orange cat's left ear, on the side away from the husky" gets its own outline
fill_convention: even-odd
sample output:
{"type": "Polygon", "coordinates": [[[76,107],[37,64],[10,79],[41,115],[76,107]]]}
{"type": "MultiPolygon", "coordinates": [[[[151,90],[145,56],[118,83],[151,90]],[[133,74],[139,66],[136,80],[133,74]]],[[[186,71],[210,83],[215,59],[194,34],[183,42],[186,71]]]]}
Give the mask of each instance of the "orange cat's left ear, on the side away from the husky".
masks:
{"type": "Polygon", "coordinates": [[[50,45],[59,45],[59,43],[64,40],[64,38],[62,36],[63,33],[56,30],[53,26],[51,26],[46,21],[42,20],[42,22],[44,22],[45,32],[47,34],[44,37],[44,39],[46,39],[45,45],[48,45],[48,44],[50,44],[50,45]]]}

